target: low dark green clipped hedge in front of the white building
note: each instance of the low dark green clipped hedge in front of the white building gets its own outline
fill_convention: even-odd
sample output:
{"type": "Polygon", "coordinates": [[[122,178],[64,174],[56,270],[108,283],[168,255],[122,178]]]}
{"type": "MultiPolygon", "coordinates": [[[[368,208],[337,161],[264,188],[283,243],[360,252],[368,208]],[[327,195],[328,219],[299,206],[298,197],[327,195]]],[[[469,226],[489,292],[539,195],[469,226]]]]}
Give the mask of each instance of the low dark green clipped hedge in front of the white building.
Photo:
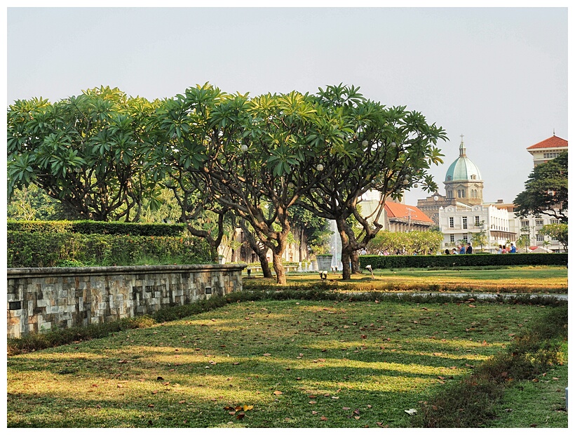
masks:
{"type": "Polygon", "coordinates": [[[567,266],[567,253],[361,255],[360,267],[364,269],[367,265],[371,265],[372,269],[454,266],[567,266]]]}

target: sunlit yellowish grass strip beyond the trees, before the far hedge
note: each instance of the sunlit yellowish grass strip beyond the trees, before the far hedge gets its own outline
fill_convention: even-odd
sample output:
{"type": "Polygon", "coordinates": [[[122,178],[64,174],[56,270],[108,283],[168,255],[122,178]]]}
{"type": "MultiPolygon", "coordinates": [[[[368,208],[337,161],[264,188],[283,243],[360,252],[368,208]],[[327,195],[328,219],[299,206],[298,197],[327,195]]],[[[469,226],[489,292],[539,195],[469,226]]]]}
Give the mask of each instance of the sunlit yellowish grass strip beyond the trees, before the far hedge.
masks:
{"type": "MultiPolygon", "coordinates": [[[[261,273],[259,274],[261,276],[261,273]]],[[[255,278],[246,278],[257,281],[255,278]]],[[[377,269],[374,279],[367,271],[341,280],[341,272],[328,272],[327,279],[355,290],[424,290],[499,293],[567,293],[566,267],[506,267],[497,269],[377,269]]],[[[317,283],[319,274],[291,272],[288,284],[317,283]]],[[[273,283],[275,281],[269,281],[273,283]]]]}

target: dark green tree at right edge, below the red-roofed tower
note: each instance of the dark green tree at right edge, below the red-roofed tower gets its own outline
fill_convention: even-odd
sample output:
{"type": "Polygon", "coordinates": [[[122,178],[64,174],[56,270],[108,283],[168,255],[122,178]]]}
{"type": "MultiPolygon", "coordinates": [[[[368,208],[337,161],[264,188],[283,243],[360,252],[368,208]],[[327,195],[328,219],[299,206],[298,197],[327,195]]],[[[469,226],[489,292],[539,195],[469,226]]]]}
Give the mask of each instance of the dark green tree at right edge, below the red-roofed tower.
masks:
{"type": "Polygon", "coordinates": [[[566,224],[569,199],[567,176],[567,151],[533,168],[525,182],[525,190],[513,201],[517,216],[548,215],[566,224]]]}

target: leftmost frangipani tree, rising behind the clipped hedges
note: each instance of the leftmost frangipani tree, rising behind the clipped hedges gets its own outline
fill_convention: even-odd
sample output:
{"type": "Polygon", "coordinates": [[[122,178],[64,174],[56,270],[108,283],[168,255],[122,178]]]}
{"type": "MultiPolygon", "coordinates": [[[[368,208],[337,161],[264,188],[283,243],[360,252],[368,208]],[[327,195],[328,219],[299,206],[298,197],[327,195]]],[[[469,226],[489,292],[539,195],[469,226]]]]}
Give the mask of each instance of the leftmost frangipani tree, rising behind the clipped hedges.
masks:
{"type": "Polygon", "coordinates": [[[155,184],[142,170],[157,102],[100,87],[8,108],[8,195],[34,184],[86,219],[136,221],[155,184]]]}

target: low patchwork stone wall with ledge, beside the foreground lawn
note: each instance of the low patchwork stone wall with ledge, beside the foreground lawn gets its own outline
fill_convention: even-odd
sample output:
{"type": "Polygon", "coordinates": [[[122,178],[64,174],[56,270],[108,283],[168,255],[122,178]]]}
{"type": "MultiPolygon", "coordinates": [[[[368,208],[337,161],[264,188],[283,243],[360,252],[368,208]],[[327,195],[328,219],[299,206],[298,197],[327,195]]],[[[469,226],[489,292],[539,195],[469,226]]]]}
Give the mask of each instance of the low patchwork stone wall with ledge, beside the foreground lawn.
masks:
{"type": "Polygon", "coordinates": [[[242,289],[245,265],[8,269],[8,337],[151,314],[242,289]]]}

